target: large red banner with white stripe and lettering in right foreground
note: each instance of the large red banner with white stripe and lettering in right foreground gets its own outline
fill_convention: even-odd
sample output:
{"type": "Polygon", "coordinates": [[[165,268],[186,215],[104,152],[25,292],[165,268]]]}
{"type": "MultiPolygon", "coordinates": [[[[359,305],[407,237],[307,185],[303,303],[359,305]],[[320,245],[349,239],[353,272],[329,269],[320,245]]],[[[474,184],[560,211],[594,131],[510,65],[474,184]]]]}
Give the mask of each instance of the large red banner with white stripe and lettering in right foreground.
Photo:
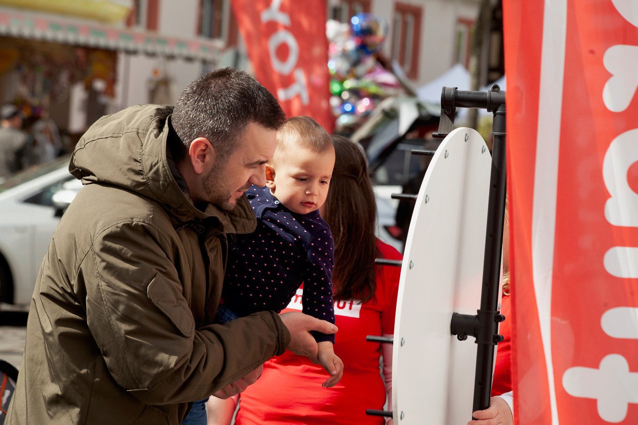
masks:
{"type": "Polygon", "coordinates": [[[638,424],[638,8],[504,1],[517,424],[638,424]]]}

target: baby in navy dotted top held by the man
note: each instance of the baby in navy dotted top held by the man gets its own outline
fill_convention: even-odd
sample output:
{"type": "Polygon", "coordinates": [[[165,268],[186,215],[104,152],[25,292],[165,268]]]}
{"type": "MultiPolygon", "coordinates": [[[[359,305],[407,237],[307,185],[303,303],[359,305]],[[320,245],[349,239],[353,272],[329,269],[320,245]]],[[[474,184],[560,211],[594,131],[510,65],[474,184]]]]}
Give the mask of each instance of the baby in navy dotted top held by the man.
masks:
{"type": "MultiPolygon", "coordinates": [[[[328,133],[310,117],[288,119],[266,165],[266,186],[246,192],[258,224],[252,234],[230,241],[217,322],[256,311],[279,312],[303,283],[303,313],[334,324],[334,243],[318,211],[328,195],[332,168],[328,133]]],[[[319,362],[331,375],[323,387],[332,387],[343,375],[334,335],[313,332],[313,337],[319,362]]]]}

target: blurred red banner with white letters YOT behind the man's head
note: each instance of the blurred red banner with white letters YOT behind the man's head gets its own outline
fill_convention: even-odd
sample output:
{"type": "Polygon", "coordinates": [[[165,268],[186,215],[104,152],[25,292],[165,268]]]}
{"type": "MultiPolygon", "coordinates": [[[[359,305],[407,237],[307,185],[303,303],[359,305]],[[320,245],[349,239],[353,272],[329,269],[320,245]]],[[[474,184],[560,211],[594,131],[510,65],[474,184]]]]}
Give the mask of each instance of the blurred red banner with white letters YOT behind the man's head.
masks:
{"type": "Polygon", "coordinates": [[[288,117],[313,117],[334,130],[330,111],[324,0],[232,0],[255,70],[288,117]]]}

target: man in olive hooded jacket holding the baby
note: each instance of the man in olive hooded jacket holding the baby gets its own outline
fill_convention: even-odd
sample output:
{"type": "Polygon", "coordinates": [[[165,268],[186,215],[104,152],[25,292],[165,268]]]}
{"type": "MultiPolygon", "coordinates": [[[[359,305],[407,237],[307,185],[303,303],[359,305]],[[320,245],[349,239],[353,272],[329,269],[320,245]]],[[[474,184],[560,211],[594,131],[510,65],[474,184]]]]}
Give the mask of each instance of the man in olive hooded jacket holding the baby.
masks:
{"type": "MultiPolygon", "coordinates": [[[[6,424],[179,424],[286,348],[316,361],[301,313],[212,325],[227,235],[256,226],[243,192],[265,185],[285,116],[248,74],[202,75],[175,109],[130,107],[80,139],[85,184],[38,275],[6,424]]],[[[248,375],[248,377],[246,377],[248,375]]],[[[244,378],[246,377],[246,378],[244,378]]]]}

